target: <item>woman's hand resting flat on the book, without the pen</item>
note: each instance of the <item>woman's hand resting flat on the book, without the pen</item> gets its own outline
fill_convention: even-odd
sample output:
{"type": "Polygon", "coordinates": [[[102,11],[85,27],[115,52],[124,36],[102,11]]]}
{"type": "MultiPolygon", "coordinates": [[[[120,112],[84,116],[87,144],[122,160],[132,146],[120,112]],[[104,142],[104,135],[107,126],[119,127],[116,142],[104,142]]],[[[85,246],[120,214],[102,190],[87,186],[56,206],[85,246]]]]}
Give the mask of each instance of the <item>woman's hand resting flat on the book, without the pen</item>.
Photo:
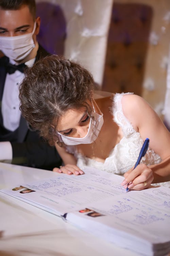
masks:
{"type": "Polygon", "coordinates": [[[55,167],[53,169],[53,172],[66,173],[68,175],[71,175],[71,174],[74,174],[74,175],[84,174],[84,172],[78,166],[70,165],[70,164],[67,164],[65,166],[60,166],[60,168],[55,167]]]}

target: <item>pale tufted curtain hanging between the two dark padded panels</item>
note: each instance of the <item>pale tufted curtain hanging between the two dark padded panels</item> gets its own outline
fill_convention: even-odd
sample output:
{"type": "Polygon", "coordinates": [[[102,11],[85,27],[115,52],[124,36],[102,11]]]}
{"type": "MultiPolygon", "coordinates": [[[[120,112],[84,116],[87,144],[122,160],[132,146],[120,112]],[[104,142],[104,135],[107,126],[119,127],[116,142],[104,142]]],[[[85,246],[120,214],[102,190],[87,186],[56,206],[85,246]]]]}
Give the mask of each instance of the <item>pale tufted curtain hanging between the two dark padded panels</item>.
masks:
{"type": "MultiPolygon", "coordinates": [[[[44,2],[44,0],[36,0],[36,2],[44,2]]],[[[67,24],[64,56],[88,69],[100,88],[113,0],[46,0],[46,2],[60,5],[63,10],[67,24]]]]}

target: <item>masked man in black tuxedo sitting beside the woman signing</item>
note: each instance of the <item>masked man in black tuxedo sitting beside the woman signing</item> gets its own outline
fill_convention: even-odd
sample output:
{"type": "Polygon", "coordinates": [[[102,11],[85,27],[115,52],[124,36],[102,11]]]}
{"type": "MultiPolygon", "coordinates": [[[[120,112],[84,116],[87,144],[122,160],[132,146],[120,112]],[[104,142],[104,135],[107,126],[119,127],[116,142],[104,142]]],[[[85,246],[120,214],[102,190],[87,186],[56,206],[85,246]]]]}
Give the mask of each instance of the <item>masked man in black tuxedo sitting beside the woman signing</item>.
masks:
{"type": "Polygon", "coordinates": [[[24,69],[49,55],[36,40],[39,27],[35,0],[0,0],[0,161],[52,170],[61,157],[19,110],[24,69]]]}

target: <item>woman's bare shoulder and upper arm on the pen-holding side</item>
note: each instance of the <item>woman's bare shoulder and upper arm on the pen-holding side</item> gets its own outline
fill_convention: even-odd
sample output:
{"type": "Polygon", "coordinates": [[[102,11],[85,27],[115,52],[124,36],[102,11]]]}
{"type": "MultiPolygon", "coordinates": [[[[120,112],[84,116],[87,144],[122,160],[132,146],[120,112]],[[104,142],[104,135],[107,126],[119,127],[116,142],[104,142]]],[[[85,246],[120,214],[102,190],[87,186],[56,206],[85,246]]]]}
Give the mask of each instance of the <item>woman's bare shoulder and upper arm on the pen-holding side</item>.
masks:
{"type": "Polygon", "coordinates": [[[170,156],[170,133],[146,100],[137,95],[124,95],[122,110],[142,140],[150,139],[150,148],[156,154],[162,159],[170,156]]]}

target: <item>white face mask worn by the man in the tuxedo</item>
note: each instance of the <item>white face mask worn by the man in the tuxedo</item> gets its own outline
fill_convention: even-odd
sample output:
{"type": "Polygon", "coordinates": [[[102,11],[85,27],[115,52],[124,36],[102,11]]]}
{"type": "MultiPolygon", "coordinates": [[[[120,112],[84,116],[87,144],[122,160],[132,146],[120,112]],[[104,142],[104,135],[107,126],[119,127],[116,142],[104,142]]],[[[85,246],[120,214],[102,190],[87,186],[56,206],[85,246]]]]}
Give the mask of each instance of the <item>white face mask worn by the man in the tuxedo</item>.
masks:
{"type": "Polygon", "coordinates": [[[10,59],[22,60],[35,47],[32,35],[35,32],[36,22],[32,33],[17,35],[15,37],[0,37],[0,50],[10,59]]]}

